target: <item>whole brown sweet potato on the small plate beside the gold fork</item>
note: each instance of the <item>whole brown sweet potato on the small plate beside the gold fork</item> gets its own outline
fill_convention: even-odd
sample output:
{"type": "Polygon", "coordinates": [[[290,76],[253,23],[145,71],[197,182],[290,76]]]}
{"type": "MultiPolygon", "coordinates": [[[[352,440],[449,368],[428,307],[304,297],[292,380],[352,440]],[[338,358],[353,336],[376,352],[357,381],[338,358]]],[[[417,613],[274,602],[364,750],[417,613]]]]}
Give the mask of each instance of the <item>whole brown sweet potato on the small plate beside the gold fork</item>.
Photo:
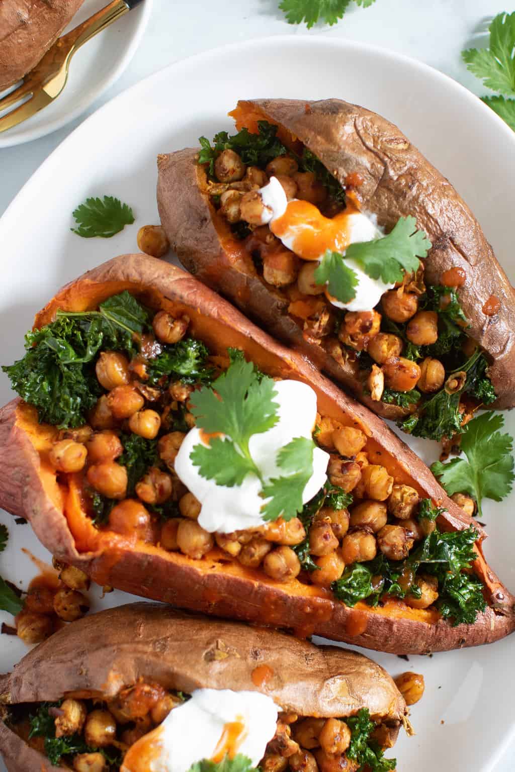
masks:
{"type": "Polygon", "coordinates": [[[84,0],[2,0],[0,91],[29,73],[84,0]]]}

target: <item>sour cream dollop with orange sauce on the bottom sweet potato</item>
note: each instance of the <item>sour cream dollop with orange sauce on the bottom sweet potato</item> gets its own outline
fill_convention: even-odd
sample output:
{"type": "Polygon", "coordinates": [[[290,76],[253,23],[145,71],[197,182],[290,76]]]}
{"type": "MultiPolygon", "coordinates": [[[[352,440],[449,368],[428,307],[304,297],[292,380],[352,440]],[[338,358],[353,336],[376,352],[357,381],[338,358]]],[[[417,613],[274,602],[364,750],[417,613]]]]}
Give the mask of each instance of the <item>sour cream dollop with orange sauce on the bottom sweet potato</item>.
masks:
{"type": "Polygon", "coordinates": [[[196,689],[127,751],[121,772],[188,772],[202,759],[242,753],[257,767],[276,733],[278,708],[260,692],[196,689]]]}

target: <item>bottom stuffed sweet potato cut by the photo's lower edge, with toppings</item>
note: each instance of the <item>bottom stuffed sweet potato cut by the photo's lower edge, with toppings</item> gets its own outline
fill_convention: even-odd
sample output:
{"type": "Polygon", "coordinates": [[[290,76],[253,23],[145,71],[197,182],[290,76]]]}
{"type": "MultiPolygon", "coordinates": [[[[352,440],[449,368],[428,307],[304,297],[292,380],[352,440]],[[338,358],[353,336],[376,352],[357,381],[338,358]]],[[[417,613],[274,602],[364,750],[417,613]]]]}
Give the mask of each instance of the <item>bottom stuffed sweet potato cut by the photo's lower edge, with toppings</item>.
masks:
{"type": "Polygon", "coordinates": [[[57,632],[2,676],[0,705],[8,772],[187,772],[225,753],[268,772],[383,770],[408,726],[363,655],[150,603],[57,632]]]}

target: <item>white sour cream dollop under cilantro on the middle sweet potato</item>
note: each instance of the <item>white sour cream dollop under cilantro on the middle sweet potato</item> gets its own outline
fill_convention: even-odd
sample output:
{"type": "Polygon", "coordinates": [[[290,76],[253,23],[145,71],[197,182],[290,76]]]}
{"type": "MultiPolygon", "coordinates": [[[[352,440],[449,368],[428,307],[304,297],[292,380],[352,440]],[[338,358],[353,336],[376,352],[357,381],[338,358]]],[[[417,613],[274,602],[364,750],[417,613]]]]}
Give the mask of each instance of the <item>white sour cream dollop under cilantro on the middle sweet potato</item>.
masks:
{"type": "MultiPolygon", "coordinates": [[[[277,466],[277,453],[296,437],[310,438],[317,418],[317,394],[300,381],[277,381],[273,401],[279,405],[279,421],[263,434],[252,435],[249,451],[263,475],[265,482],[280,477],[284,472],[277,466]]],[[[261,513],[266,499],[259,496],[262,490],[256,475],[249,474],[241,486],[217,485],[200,475],[193,466],[190,455],[195,445],[205,445],[202,432],[192,428],[185,436],[175,459],[175,471],[181,482],[202,504],[198,523],[210,533],[231,533],[235,530],[256,528],[265,522],[261,513]]],[[[313,474],[303,490],[306,503],[315,496],[326,481],[329,454],[320,448],[313,450],[313,474]]]]}

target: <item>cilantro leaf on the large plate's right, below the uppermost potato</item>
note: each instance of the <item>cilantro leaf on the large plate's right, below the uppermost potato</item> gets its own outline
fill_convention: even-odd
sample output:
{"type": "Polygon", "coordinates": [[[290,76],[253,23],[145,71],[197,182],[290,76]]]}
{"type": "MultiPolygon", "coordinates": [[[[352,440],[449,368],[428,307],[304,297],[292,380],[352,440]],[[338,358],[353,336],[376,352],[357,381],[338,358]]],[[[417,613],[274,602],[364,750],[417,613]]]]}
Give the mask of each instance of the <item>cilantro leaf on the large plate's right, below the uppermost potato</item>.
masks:
{"type": "Polygon", "coordinates": [[[469,493],[477,502],[482,516],[483,498],[501,501],[513,486],[513,438],[501,434],[503,415],[492,411],[478,415],[466,425],[461,449],[466,459],[452,459],[447,463],[435,462],[432,473],[449,495],[469,493]]]}

